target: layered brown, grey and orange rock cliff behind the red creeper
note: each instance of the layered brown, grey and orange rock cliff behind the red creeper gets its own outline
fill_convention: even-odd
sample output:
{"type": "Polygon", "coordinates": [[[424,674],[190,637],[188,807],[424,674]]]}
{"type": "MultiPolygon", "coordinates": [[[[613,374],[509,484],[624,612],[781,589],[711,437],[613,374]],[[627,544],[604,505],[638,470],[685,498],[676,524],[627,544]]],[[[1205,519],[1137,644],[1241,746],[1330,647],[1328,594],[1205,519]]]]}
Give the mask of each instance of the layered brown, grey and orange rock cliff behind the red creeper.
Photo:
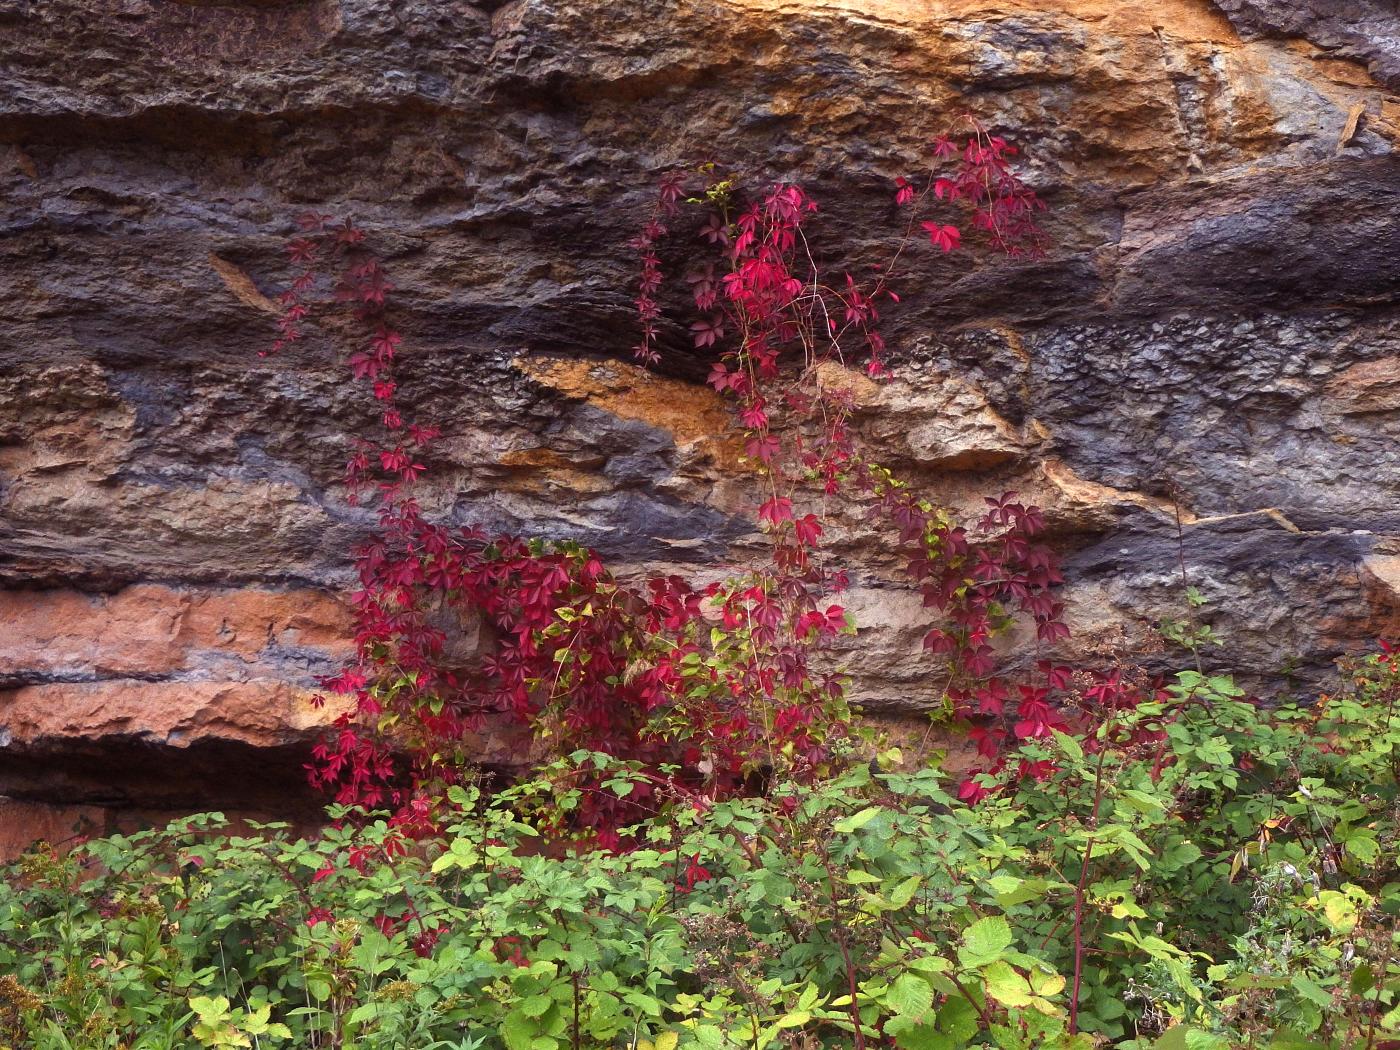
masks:
{"type": "MultiPolygon", "coordinates": [[[[627,364],[655,178],[798,179],[874,259],[972,111],[1054,246],[928,260],[867,440],[953,507],[1044,505],[1100,654],[1179,612],[1177,512],[1222,664],[1308,686],[1400,629],[1393,3],[6,0],[0,53],[0,848],[312,804],[370,518],[335,333],[256,357],[308,206],[402,288],[437,514],[704,577],[750,491],[683,340],[627,364]]],[[[914,711],[917,601],[841,542],[857,696],[914,711]]]]}

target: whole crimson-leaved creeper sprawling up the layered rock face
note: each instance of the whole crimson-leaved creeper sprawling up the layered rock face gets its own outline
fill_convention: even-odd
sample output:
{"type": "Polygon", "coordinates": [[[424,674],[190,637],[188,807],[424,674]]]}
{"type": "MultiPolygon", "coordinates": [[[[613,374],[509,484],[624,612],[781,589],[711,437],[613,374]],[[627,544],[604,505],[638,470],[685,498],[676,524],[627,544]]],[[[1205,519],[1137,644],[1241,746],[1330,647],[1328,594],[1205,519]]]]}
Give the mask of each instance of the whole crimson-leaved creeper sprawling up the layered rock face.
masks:
{"type": "MultiPolygon", "coordinates": [[[[976,122],[962,143],[935,141],[920,176],[895,181],[904,217],[889,260],[839,281],[815,262],[818,204],[799,186],[750,197],[714,165],[661,181],[655,213],[631,242],[636,357],[659,361],[676,323],[662,302],[662,256],[679,251],[696,311],[680,323],[713,356],[710,385],[734,403],[759,491],[755,522],[771,546],[766,564],[704,589],[673,575],[624,584],[575,543],[428,521],[414,491],[438,430],[410,421],[398,400],[392,286],[361,228],[304,217],[288,244],[300,270],[281,297],[273,349],[302,339],[329,283],[361,332],[347,367],[378,403],[382,433],[357,441],[346,465],[350,500],[377,508],[378,529],[357,552],[357,658],[325,680],[354,703],[316,746],[314,780],[342,802],[395,806],[412,829],[431,820],[428,799],[469,766],[469,734],[486,720],[524,724],[566,750],[641,764],[645,776],[626,797],[585,791],[577,815],[616,846],[616,829],[657,795],[704,805],[755,777],[833,769],[854,736],[844,679],[823,652],[853,630],[840,603],[847,571],[823,546],[844,505],[862,507],[904,552],[935,613],[924,645],[946,658],[946,696],[976,722],[990,771],[1004,769],[1008,742],[1068,728],[1063,700],[1082,700],[1070,671],[1040,659],[1032,680],[1012,682],[991,644],[1019,619],[1042,645],[1067,633],[1040,511],[1008,493],[988,498],[980,521],[959,524],[871,461],[851,426],[851,368],[888,375],[881,311],[899,302],[920,239],[939,253],[963,251],[970,224],[994,251],[1042,252],[1042,206],[1012,171],[1014,154],[976,122]],[[454,623],[480,624],[479,654],[449,655],[454,623]]],[[[972,799],[987,790],[976,776],[960,788],[972,799]]]]}

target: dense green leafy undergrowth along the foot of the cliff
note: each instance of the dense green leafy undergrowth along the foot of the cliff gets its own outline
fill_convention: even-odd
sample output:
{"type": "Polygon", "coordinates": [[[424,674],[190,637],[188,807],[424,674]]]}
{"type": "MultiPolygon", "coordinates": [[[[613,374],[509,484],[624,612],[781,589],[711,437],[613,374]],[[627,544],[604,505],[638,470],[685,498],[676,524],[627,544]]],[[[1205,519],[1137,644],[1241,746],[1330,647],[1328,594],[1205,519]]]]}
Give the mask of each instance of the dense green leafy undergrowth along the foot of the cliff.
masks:
{"type": "Polygon", "coordinates": [[[490,797],[451,788],[442,833],[409,848],[382,819],[294,840],[210,815],[39,850],[0,889],[0,1032],[42,1050],[1380,1047],[1400,1037],[1400,669],[1350,673],[1277,710],[1182,673],[1082,743],[1023,743],[1040,776],[976,805],[896,753],[766,798],[676,797],[626,853],[539,836],[591,791],[655,784],[585,752],[490,797]]]}

